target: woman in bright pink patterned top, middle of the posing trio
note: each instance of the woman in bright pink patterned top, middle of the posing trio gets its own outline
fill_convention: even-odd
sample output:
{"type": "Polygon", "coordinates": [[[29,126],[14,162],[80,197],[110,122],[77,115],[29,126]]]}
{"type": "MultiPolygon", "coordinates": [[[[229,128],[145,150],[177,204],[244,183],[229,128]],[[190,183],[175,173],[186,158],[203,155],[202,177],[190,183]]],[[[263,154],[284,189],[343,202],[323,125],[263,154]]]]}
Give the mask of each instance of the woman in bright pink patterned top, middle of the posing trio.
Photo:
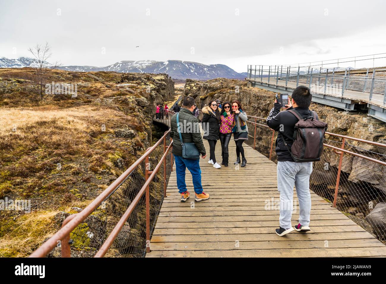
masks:
{"type": "Polygon", "coordinates": [[[232,128],[234,121],[234,114],[230,111],[230,102],[224,102],[223,111],[220,116],[220,142],[221,142],[221,155],[222,163],[225,167],[228,167],[229,151],[228,145],[230,138],[232,137],[232,128]]]}

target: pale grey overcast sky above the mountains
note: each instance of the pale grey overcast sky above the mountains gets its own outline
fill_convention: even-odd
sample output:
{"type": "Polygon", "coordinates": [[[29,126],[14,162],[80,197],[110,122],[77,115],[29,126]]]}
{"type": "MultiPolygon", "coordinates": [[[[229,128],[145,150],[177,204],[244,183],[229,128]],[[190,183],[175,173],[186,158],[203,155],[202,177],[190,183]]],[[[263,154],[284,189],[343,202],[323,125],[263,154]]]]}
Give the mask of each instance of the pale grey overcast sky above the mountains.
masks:
{"type": "Polygon", "coordinates": [[[30,46],[47,41],[50,61],[62,65],[185,60],[245,72],[249,64],[386,52],[381,0],[0,0],[0,7],[0,57],[30,56],[30,46]]]}

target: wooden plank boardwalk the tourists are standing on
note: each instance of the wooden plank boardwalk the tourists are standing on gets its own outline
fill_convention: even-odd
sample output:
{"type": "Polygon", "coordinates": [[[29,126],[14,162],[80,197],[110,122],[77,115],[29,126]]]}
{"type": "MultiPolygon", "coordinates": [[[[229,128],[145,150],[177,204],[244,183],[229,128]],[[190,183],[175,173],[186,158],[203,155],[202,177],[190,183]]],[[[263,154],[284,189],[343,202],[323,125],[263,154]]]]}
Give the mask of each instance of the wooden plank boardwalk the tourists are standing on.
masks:
{"type": "MultiPolygon", "coordinates": [[[[204,140],[209,153],[209,145],[204,140]]],[[[386,246],[331,204],[311,192],[311,231],[276,235],[279,210],[267,210],[278,201],[276,164],[244,144],[247,166],[234,166],[235,144],[229,143],[229,167],[213,168],[200,159],[204,192],[210,199],[194,202],[191,175],[186,184],[191,194],[180,202],[173,170],[167,195],[146,257],[372,257],[386,256],[386,246]],[[273,203],[274,203],[273,202],[273,203]]],[[[209,156],[209,155],[208,155],[209,156]]],[[[221,162],[220,141],[216,158],[221,162]]],[[[175,169],[175,165],[174,165],[175,169]]],[[[294,194],[296,198],[296,191],[294,194]]],[[[297,224],[298,206],[292,225],[297,224]]]]}

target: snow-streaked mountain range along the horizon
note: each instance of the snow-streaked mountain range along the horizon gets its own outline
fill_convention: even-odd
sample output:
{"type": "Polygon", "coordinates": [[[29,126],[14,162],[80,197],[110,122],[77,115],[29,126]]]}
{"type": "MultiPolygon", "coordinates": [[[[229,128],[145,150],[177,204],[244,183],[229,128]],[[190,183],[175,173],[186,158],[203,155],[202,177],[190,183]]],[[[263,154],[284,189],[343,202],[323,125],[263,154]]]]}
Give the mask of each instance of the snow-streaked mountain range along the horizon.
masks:
{"type": "MultiPolygon", "coordinates": [[[[0,68],[29,67],[34,63],[32,58],[20,57],[19,59],[0,58],[0,68]]],[[[115,71],[122,73],[166,73],[175,79],[202,79],[213,78],[245,78],[243,73],[237,73],[232,68],[223,64],[205,65],[197,62],[168,60],[168,61],[119,61],[105,67],[96,66],[60,66],[58,69],[68,71],[115,71]]]]}

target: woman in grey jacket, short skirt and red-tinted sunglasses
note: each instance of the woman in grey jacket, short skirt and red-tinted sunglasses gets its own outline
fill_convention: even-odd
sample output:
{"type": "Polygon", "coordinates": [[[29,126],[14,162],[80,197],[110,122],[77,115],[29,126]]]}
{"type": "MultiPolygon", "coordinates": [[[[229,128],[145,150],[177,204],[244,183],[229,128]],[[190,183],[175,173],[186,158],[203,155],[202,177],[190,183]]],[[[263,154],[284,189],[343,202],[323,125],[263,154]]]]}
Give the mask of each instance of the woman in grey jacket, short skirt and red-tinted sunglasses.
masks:
{"type": "Polygon", "coordinates": [[[234,100],[232,102],[232,111],[235,115],[235,119],[233,121],[233,138],[236,143],[236,155],[237,155],[237,160],[235,162],[236,164],[240,163],[240,153],[242,156],[242,163],[241,167],[245,167],[247,164],[247,160],[245,159],[244,156],[244,148],[242,146],[242,143],[248,139],[248,126],[247,126],[247,114],[245,111],[243,111],[241,104],[238,100],[234,100]]]}

